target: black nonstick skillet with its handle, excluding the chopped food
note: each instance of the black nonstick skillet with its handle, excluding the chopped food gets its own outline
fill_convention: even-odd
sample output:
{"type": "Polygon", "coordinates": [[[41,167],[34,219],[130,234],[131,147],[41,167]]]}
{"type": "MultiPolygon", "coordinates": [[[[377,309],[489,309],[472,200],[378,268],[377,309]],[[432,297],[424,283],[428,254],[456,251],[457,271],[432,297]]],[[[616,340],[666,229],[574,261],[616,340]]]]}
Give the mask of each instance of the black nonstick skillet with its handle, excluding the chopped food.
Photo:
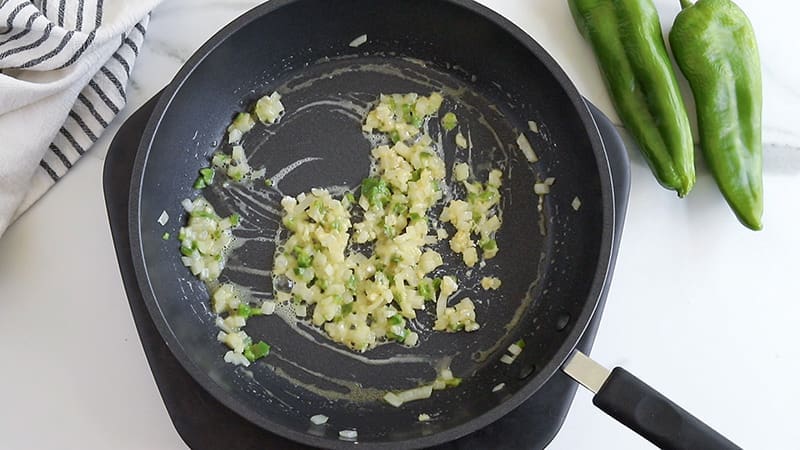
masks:
{"type": "MultiPolygon", "coordinates": [[[[437,121],[430,126],[441,134],[437,121]]],[[[448,166],[467,159],[452,133],[442,142],[448,166]]],[[[622,369],[609,377],[574,352],[609,272],[613,196],[585,103],[549,55],[497,14],[464,0],[272,0],[214,36],[165,89],[134,165],[129,223],[145,303],[176,358],[220,402],[281,436],[344,448],[353,442],[339,432],[357,430],[353,441],[371,448],[435,445],[500,418],[566,363],[581,383],[602,387],[596,404],[661,446],[735,447],[622,369]],[[349,45],[362,34],[365,44],[349,45]],[[181,266],[175,241],[162,240],[158,217],[167,211],[167,229],[177,234],[181,200],[200,194],[191,187],[198,169],[213,151],[229,151],[219,142],[231,118],[276,89],[287,115],[277,126],[257,127],[244,145],[251,164],[285,176],[272,188],[218,182],[202,192],[221,214],[243,217],[236,232],[243,245],[223,279],[271,297],[265,271],[281,196],[357,186],[368,174],[370,148],[359,112],[382,92],[442,91],[443,111],[454,109],[471,136],[477,176],[501,167],[507,180],[499,256],[472,274],[458,273],[461,295],[477,300],[481,330],[423,332],[417,348],[384,345],[356,359],[310,328],[304,337],[271,316],[248,326],[272,344],[269,357],[247,370],[222,361],[208,292],[181,266]],[[531,120],[538,133],[529,130],[531,120]],[[535,164],[514,143],[523,132],[540,158],[535,164]],[[281,170],[287,167],[294,170],[281,170]],[[531,191],[546,177],[556,184],[540,213],[531,191]],[[502,288],[477,288],[483,275],[500,276],[502,288]],[[513,364],[500,363],[520,338],[525,351],[513,364]],[[429,382],[444,358],[465,379],[459,387],[402,408],[374,400],[376,392],[429,382]],[[433,420],[419,422],[421,413],[433,420]],[[316,414],[329,422],[313,426],[316,414]]],[[[456,266],[453,255],[445,260],[456,266]]],[[[430,323],[422,317],[418,326],[430,323]]]]}

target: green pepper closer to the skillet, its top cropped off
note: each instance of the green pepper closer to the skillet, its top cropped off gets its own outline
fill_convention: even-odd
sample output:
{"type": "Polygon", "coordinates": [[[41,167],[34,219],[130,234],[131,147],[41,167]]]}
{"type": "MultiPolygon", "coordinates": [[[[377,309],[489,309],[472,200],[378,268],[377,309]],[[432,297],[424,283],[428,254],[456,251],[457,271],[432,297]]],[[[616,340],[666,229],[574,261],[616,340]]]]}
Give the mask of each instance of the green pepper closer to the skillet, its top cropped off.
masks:
{"type": "Polygon", "coordinates": [[[684,197],[695,182],[694,143],[653,1],[569,0],[569,7],[656,178],[684,197]]]}

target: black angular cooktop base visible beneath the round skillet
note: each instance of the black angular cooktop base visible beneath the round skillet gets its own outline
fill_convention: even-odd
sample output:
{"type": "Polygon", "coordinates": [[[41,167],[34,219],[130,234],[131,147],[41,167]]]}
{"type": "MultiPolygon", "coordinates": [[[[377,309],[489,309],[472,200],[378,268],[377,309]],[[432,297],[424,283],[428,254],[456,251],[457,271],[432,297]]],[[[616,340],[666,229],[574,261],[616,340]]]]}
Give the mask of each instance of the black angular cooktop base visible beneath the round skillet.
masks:
{"type": "MultiPolygon", "coordinates": [[[[180,365],[150,319],[137,285],[128,235],[128,195],[136,150],[158,96],[136,111],[114,137],[106,156],[103,189],[111,232],[133,320],[144,347],[147,362],[172,423],[186,444],[205,449],[301,449],[306,446],[271,434],[246,421],[206,392],[180,365]],[[224,430],[224,432],[220,432],[224,430]]],[[[589,104],[587,102],[587,104],[589,104]]],[[[629,161],[614,126],[589,104],[603,137],[615,186],[617,222],[613,262],[628,203],[629,161]]],[[[612,274],[609,271],[609,277],[612,274]]],[[[610,281],[610,280],[609,280],[610,281]]],[[[577,348],[588,354],[600,323],[606,292],[597,313],[577,348]]],[[[557,372],[530,399],[495,423],[437,449],[540,449],[555,437],[572,404],[577,384],[557,372]]]]}

